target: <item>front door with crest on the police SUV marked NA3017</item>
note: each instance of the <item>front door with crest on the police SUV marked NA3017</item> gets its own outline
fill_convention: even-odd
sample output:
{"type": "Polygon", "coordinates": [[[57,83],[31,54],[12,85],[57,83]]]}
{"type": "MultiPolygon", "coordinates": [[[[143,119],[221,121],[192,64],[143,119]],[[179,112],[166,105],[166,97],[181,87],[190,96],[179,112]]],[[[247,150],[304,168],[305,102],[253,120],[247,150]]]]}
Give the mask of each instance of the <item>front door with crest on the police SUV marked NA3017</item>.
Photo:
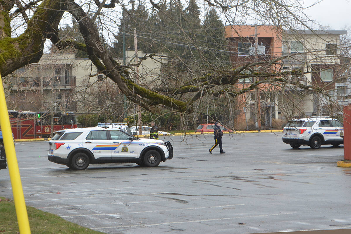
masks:
{"type": "Polygon", "coordinates": [[[114,157],[138,158],[139,142],[120,130],[109,130],[111,135],[111,154],[114,157]]]}

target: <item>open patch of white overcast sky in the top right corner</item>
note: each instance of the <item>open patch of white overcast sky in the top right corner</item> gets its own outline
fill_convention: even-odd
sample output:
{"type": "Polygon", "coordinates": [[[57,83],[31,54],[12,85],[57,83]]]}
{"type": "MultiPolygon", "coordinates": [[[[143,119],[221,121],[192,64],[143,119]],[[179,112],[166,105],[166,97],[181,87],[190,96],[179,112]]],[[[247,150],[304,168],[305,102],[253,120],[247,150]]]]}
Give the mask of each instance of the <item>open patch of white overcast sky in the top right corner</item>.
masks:
{"type": "MultiPolygon", "coordinates": [[[[305,6],[315,2],[317,0],[305,0],[305,6]]],[[[306,9],[305,13],[311,20],[324,26],[329,25],[333,30],[344,29],[345,26],[348,29],[351,27],[351,0],[322,0],[306,9]]]]}

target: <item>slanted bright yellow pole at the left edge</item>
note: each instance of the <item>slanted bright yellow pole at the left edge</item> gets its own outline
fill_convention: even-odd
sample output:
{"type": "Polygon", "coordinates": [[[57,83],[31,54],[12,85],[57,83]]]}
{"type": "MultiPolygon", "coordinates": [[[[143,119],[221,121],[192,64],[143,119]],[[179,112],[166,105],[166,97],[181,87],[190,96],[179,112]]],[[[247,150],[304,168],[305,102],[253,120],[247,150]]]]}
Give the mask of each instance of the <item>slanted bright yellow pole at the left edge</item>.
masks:
{"type": "Polygon", "coordinates": [[[2,86],[2,79],[0,75],[0,125],[2,137],[4,140],[5,153],[8,165],[8,171],[11,179],[13,200],[15,202],[16,215],[20,234],[30,234],[28,214],[26,202],[24,200],[20,171],[15,152],[15,145],[13,143],[10,119],[8,117],[4,87],[2,86]]]}

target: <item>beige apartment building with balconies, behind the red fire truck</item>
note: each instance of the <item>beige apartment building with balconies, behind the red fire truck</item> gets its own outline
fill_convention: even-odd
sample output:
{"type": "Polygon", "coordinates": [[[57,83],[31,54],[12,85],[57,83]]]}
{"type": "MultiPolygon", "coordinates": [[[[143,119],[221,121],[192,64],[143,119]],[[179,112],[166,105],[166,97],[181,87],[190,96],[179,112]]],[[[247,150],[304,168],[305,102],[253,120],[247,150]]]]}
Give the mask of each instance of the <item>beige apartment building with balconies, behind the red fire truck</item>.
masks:
{"type": "MultiPolygon", "coordinates": [[[[138,57],[144,55],[138,52],[138,57]]],[[[134,60],[134,51],[127,51],[126,62],[134,64],[134,60]]],[[[140,85],[157,84],[163,62],[162,56],[157,61],[143,60],[137,72],[130,69],[131,75],[139,78],[140,85]]],[[[99,74],[88,58],[75,58],[74,53],[44,54],[38,63],[18,69],[5,80],[9,109],[81,114],[125,102],[114,82],[99,74]]]]}

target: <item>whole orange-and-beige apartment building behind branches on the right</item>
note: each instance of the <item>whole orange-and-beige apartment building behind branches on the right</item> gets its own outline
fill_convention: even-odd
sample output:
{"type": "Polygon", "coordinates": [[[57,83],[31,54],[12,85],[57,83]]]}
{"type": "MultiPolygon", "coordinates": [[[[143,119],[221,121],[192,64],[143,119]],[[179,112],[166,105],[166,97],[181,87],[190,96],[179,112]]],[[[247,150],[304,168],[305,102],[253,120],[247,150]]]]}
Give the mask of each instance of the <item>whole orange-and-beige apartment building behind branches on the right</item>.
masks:
{"type": "MultiPolygon", "coordinates": [[[[269,25],[227,26],[226,38],[233,66],[285,56],[273,69],[303,72],[301,76],[291,75],[283,87],[262,84],[258,89],[239,96],[237,126],[253,122],[258,127],[259,119],[262,126],[272,126],[274,119],[325,114],[329,101],[323,93],[296,88],[294,82],[313,88],[324,87],[329,93],[335,92],[335,84],[340,85],[335,80],[340,75],[338,48],[342,34],[346,34],[346,31],[291,32],[269,25]]],[[[250,86],[254,81],[239,80],[238,87],[250,86]]]]}

